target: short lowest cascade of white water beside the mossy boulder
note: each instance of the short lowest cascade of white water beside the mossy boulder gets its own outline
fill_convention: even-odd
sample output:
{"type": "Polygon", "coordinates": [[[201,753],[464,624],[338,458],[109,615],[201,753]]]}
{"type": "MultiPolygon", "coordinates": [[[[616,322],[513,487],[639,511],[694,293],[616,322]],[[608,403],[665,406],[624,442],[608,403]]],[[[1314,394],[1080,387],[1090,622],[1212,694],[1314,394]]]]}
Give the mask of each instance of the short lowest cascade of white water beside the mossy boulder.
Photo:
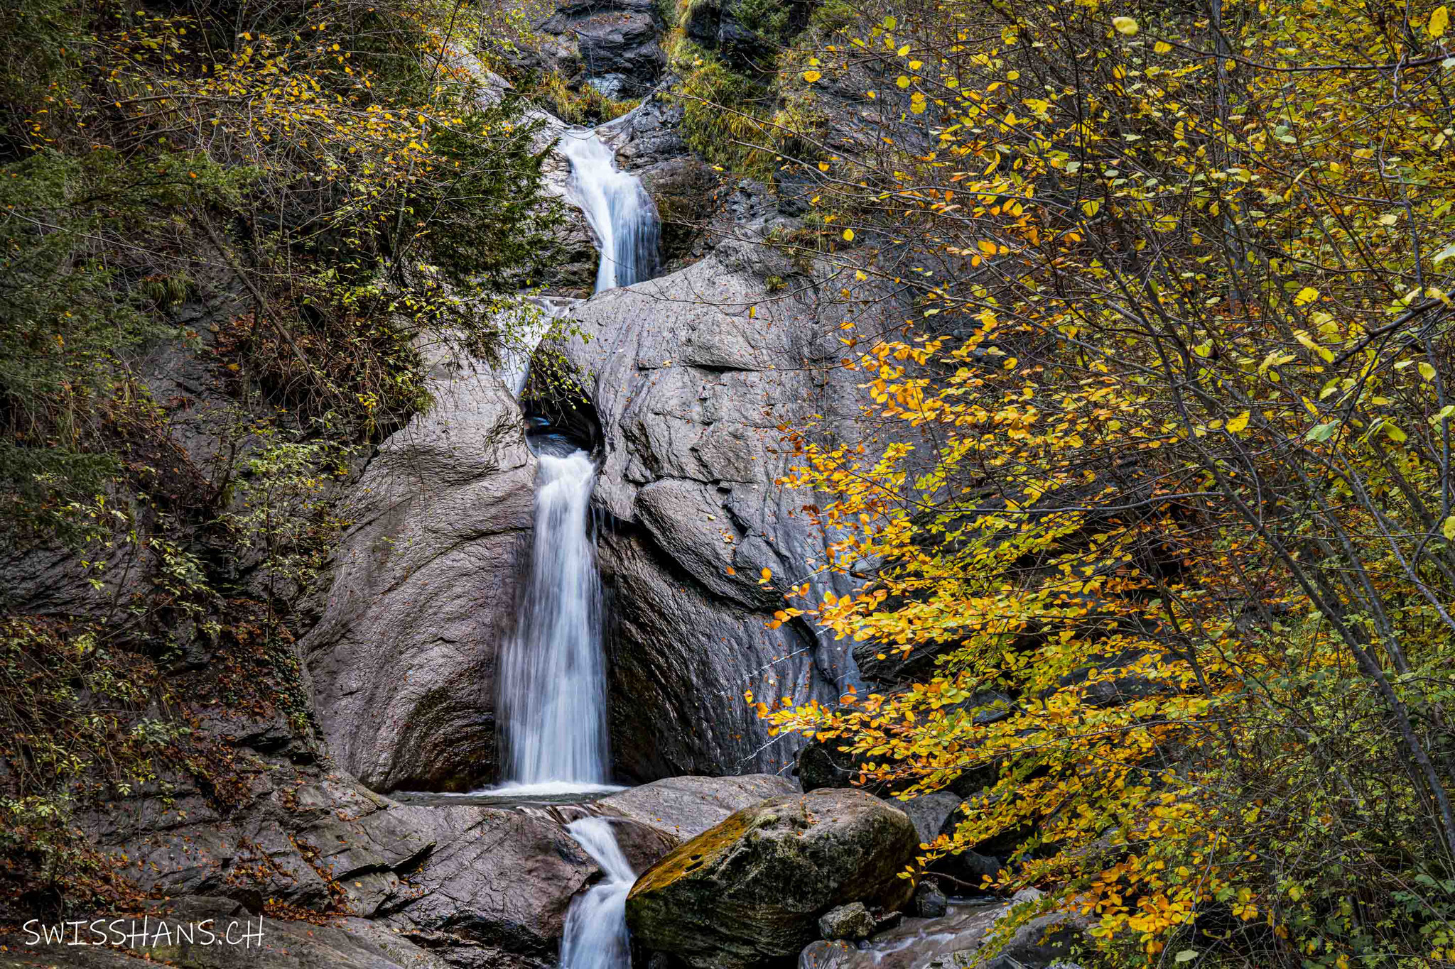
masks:
{"type": "Polygon", "coordinates": [[[636,873],[605,818],[572,821],[566,830],[601,866],[605,879],[572,899],[560,940],[560,969],[627,969],[627,892],[636,873]]]}

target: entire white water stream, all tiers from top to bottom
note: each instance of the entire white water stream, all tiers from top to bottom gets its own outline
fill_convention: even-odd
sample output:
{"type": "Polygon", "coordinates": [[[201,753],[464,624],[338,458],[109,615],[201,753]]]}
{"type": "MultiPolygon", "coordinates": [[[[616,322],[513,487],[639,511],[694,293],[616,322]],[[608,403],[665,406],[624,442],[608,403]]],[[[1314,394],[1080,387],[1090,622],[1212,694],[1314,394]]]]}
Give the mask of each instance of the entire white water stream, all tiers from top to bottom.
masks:
{"type": "MultiPolygon", "coordinates": [[[[618,171],[594,131],[569,131],[559,150],[570,160],[569,198],[601,247],[597,292],[649,279],[656,269],[658,218],[636,176],[618,171]]],[[[535,343],[565,312],[541,305],[541,325],[506,360],[511,389],[525,385],[535,343]]],[[[498,795],[566,795],[610,789],[607,677],[601,644],[601,581],[591,535],[597,468],[562,442],[538,447],[535,542],[515,632],[501,652],[499,725],[505,783],[498,795]]],[[[611,824],[588,816],[567,831],[605,877],[570,904],[560,943],[562,969],[629,969],[627,892],[636,875],[611,824]]]]}

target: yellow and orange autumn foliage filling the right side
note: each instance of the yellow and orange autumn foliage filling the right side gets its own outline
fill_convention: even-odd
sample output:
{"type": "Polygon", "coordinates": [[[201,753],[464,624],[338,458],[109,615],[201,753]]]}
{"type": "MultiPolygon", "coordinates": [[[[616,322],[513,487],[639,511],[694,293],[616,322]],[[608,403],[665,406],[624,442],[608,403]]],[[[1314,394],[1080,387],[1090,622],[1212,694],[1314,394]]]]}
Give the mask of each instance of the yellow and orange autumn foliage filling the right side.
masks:
{"type": "Polygon", "coordinates": [[[774,623],[933,662],[760,709],[972,784],[917,864],[995,854],[1106,965],[1448,965],[1449,9],[1212,12],[877,4],[803,52],[857,92],[816,272],[850,331],[912,309],[844,337],[863,443],[796,439],[856,591],[774,623]]]}

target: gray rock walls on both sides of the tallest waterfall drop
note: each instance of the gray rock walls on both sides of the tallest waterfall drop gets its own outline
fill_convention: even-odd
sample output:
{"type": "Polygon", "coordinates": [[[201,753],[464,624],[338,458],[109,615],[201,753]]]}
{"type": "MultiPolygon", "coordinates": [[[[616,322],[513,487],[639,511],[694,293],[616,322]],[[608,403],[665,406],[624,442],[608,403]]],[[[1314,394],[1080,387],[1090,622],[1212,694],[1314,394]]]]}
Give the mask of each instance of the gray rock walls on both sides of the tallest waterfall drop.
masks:
{"type": "MultiPolygon", "coordinates": [[[[850,644],[767,625],[828,540],[794,514],[812,495],[774,484],[792,463],[778,429],[845,424],[860,400],[813,280],[757,241],[776,218],[579,304],[582,336],[556,347],[602,434],[594,506],[623,780],[786,770],[794,738],[770,738],[745,693],[829,702],[858,684],[850,644]]],[[[441,356],[435,372],[435,407],[384,442],[348,500],[355,524],[303,641],[324,738],[378,790],[495,779],[495,654],[531,527],[515,401],[477,360],[441,356]]],[[[810,584],[848,591],[848,577],[810,584]]]]}

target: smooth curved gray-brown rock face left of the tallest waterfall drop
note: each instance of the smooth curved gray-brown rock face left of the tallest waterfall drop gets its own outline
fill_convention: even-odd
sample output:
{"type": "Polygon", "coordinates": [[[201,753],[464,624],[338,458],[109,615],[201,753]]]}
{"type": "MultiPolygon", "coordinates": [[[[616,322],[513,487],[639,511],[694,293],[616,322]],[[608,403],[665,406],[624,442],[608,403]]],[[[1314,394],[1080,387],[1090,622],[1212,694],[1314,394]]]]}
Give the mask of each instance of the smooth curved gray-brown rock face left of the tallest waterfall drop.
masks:
{"type": "Polygon", "coordinates": [[[533,523],[514,398],[480,362],[435,357],[435,407],[364,471],[323,619],[301,642],[329,748],[375,790],[492,779],[495,654],[533,523]]]}

